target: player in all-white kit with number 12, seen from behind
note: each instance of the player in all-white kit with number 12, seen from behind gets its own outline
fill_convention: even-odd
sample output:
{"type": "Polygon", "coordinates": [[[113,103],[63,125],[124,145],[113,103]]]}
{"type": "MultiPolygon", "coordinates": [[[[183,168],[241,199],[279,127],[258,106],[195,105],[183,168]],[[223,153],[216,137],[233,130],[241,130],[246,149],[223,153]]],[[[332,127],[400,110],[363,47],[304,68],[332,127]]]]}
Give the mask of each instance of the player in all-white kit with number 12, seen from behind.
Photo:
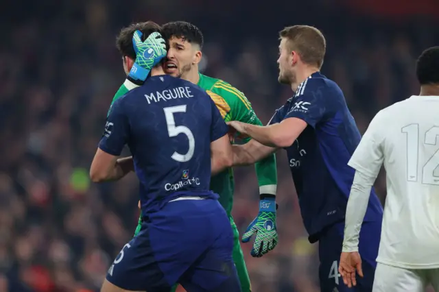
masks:
{"type": "MultiPolygon", "coordinates": [[[[346,208],[339,271],[345,284],[361,276],[359,231],[370,188],[387,173],[374,292],[439,291],[439,47],[416,64],[420,95],[378,112],[348,165],[355,178],[346,208]]],[[[367,244],[367,243],[364,243],[367,244]]]]}

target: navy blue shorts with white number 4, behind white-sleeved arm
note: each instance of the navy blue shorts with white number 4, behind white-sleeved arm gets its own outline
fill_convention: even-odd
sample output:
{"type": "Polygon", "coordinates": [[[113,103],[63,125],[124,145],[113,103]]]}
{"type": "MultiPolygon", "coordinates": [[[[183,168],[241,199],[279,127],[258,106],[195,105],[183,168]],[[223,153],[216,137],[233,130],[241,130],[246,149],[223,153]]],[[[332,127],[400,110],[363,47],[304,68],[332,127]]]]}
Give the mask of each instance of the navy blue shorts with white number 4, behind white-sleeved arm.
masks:
{"type": "Polygon", "coordinates": [[[324,230],[319,239],[319,278],[322,292],[370,292],[372,291],[379,241],[381,221],[364,222],[359,234],[359,254],[361,255],[364,278],[357,276],[357,286],[349,289],[338,273],[338,263],[342,253],[344,222],[324,230]]]}

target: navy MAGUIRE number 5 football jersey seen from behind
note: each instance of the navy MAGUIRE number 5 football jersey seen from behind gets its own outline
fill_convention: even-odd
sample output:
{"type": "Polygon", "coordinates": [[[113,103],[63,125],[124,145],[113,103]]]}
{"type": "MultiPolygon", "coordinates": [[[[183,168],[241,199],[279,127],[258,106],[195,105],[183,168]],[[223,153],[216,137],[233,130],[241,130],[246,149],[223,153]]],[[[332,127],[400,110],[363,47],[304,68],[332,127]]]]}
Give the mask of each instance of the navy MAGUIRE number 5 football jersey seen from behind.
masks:
{"type": "Polygon", "coordinates": [[[128,145],[146,215],[177,197],[217,199],[209,191],[210,144],[227,130],[202,88],[161,75],[148,78],[143,86],[115,101],[99,148],[119,156],[128,145]]]}

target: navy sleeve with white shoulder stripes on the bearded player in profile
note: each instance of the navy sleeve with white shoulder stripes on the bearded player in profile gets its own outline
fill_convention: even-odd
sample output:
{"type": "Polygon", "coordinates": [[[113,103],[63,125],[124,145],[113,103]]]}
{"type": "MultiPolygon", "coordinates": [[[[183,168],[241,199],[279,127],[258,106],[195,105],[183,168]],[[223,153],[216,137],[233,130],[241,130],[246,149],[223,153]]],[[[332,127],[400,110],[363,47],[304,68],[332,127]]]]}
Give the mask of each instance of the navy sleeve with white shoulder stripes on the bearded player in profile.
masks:
{"type": "Polygon", "coordinates": [[[298,118],[307,122],[311,127],[323,119],[329,117],[337,105],[337,100],[333,100],[331,95],[333,89],[320,78],[309,78],[296,91],[296,96],[292,101],[284,119],[298,118]]]}

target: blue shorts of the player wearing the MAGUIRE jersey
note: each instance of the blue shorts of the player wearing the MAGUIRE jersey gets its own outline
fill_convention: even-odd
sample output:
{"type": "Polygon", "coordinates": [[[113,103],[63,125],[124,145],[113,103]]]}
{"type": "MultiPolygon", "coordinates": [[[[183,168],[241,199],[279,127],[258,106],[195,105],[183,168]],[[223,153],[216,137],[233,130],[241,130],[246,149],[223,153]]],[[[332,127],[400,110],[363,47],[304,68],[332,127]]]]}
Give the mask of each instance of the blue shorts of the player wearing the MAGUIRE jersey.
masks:
{"type": "Polygon", "coordinates": [[[232,228],[219,202],[182,199],[144,218],[106,279],[131,291],[169,292],[178,282],[187,291],[239,292],[232,252],[232,228]]]}

